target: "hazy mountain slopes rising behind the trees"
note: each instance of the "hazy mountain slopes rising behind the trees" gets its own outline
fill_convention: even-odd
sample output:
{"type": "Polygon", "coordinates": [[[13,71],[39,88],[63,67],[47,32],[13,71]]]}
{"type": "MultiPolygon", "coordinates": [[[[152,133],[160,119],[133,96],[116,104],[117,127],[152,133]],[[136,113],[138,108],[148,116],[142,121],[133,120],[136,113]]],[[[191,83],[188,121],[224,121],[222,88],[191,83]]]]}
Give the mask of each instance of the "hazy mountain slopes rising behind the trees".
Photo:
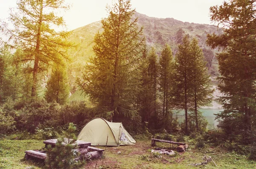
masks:
{"type": "MultiPolygon", "coordinates": [[[[206,45],[207,34],[222,34],[222,30],[214,25],[188,23],[175,20],[174,18],[155,18],[148,17],[145,14],[135,12],[133,19],[138,17],[138,27],[143,26],[143,33],[148,47],[154,46],[158,54],[161,47],[167,43],[171,46],[173,54],[177,52],[177,46],[180,44],[183,36],[189,34],[190,37],[198,39],[200,47],[203,49],[205,60],[209,73],[214,78],[218,75],[218,64],[215,59],[215,52],[206,45]]],[[[71,85],[74,85],[76,77],[81,75],[86,62],[90,56],[93,56],[93,38],[97,32],[102,31],[100,21],[85,25],[73,30],[69,40],[74,42],[77,47],[70,49],[69,55],[72,59],[69,65],[69,76],[71,85]]],[[[73,92],[76,91],[74,85],[73,92]]]]}

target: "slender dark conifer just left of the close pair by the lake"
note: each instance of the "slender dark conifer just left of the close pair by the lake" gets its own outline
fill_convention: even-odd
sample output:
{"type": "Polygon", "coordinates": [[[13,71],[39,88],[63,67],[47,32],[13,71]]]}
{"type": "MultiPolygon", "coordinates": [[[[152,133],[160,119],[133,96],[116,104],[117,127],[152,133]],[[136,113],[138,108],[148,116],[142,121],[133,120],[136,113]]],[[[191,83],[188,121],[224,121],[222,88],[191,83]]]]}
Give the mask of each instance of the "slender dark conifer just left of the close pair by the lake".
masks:
{"type": "Polygon", "coordinates": [[[172,76],[173,76],[173,57],[172,50],[169,45],[164,45],[161,51],[159,60],[159,74],[160,74],[160,92],[163,93],[163,122],[166,126],[168,122],[168,113],[170,109],[170,90],[172,90],[172,76]]]}

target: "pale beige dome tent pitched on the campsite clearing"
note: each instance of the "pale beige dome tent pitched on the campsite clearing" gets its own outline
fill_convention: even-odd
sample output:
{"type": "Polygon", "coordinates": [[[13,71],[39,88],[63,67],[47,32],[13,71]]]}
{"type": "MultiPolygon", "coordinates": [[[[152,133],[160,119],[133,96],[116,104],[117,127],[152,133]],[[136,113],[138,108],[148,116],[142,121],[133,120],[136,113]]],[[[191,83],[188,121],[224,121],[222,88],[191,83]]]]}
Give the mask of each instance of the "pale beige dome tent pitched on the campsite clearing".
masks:
{"type": "Polygon", "coordinates": [[[122,123],[112,123],[104,118],[93,118],[78,135],[78,140],[90,142],[92,146],[134,145],[136,141],[125,130],[122,123]]]}

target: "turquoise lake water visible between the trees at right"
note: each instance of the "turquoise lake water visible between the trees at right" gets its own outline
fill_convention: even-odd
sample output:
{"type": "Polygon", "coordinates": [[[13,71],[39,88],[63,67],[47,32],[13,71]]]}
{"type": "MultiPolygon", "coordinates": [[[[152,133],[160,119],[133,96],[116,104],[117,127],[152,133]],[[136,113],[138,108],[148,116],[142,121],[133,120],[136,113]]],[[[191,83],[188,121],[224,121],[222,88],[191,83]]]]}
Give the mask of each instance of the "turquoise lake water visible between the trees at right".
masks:
{"type": "MultiPolygon", "coordinates": [[[[207,127],[209,129],[216,128],[216,126],[218,125],[218,121],[215,120],[216,115],[214,115],[214,114],[218,114],[219,112],[223,111],[223,109],[200,109],[200,111],[202,112],[202,115],[204,115],[204,117],[208,121],[207,127]]],[[[185,119],[184,110],[178,111],[174,115],[177,115],[179,122],[182,122],[185,119]]]]}

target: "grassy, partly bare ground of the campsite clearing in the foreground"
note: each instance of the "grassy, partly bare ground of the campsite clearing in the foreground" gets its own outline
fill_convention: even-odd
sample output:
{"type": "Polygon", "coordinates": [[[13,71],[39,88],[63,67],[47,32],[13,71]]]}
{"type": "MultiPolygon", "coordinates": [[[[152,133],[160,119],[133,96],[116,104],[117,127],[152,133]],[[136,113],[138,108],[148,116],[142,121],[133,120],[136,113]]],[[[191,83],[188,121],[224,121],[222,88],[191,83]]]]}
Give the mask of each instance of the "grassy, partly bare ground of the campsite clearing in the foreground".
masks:
{"type": "MultiPolygon", "coordinates": [[[[34,166],[43,168],[42,162],[24,160],[24,151],[29,149],[41,149],[43,141],[38,140],[9,140],[0,141],[0,169],[24,169],[34,166]]],[[[158,147],[168,148],[169,144],[157,143],[158,147]]],[[[100,147],[104,148],[105,147],[100,147]]],[[[138,141],[134,146],[107,147],[103,169],[255,169],[256,162],[248,161],[246,156],[235,152],[228,152],[221,147],[208,147],[205,149],[189,149],[187,152],[177,153],[174,156],[162,155],[156,158],[150,152],[151,141],[138,141]],[[117,154],[117,152],[121,154],[117,154]],[[201,163],[204,155],[210,155],[217,167],[209,162],[206,166],[193,167],[189,163],[201,163]]],[[[175,150],[175,146],[172,146],[175,150]]],[[[99,169],[102,159],[88,161],[82,168],[99,169]]]]}

